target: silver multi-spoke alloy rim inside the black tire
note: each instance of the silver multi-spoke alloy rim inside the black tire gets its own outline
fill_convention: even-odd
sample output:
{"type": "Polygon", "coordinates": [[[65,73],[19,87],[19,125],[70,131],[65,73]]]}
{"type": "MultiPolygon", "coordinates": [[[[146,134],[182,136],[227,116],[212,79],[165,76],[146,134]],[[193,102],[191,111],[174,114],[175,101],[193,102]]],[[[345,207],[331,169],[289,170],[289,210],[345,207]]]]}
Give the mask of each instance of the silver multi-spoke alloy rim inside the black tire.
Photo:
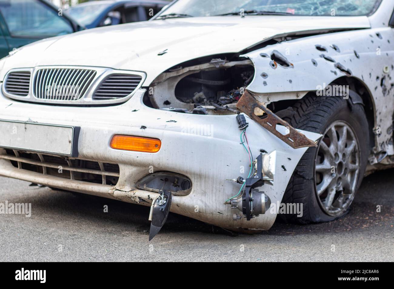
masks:
{"type": "Polygon", "coordinates": [[[345,121],[335,121],[323,134],[315,161],[315,191],[323,211],[343,214],[354,199],[360,172],[357,137],[345,121]]]}

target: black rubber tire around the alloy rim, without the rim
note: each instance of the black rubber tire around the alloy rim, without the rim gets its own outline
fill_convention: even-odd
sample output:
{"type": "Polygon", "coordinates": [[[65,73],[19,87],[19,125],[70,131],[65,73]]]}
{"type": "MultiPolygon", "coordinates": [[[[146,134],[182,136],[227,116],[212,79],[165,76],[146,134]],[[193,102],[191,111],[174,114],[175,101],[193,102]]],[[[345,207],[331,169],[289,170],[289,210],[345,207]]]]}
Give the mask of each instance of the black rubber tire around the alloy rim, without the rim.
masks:
{"type": "MultiPolygon", "coordinates": [[[[364,107],[361,104],[352,104],[351,101],[338,96],[308,94],[294,105],[293,110],[295,114],[284,118],[284,120],[297,129],[324,134],[335,121],[345,121],[353,129],[359,143],[360,162],[357,190],[364,176],[369,151],[368,122],[364,107]]],[[[303,215],[297,217],[296,214],[281,214],[280,216],[285,221],[302,224],[323,223],[343,217],[349,212],[349,208],[336,216],[324,212],[316,192],[315,164],[317,155],[317,148],[309,148],[299,161],[288,183],[282,202],[302,203],[303,215]]]]}

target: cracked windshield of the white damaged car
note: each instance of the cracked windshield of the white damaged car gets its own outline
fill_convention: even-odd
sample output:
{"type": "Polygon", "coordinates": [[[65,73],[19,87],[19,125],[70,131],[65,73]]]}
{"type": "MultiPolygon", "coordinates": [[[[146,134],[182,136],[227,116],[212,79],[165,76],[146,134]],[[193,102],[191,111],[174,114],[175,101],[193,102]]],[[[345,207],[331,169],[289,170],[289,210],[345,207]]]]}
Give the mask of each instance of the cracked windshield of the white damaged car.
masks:
{"type": "Polygon", "coordinates": [[[243,11],[271,11],[308,16],[361,16],[374,13],[382,0],[178,0],[162,15],[215,16],[243,11]]]}

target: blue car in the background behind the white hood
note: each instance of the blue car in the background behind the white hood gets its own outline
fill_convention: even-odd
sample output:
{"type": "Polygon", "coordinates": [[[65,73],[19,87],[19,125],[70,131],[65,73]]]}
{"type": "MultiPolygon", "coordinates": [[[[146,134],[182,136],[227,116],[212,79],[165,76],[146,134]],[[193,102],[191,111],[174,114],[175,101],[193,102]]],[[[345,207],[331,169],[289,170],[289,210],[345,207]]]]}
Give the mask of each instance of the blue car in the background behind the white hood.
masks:
{"type": "Polygon", "coordinates": [[[95,28],[149,20],[169,3],[165,0],[90,1],[67,9],[67,13],[86,28],[95,28]]]}

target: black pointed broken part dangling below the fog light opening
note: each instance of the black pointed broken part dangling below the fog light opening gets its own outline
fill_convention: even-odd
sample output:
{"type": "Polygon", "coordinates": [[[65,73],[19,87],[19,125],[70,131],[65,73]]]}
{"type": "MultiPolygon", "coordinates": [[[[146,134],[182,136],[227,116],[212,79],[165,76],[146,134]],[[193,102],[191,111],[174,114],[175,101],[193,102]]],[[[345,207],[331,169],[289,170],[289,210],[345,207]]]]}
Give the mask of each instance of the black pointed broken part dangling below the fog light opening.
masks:
{"type": "Polygon", "coordinates": [[[149,213],[149,221],[151,229],[149,230],[149,241],[158,234],[165,221],[167,221],[171,206],[171,192],[164,190],[152,202],[151,211],[149,213]]]}

